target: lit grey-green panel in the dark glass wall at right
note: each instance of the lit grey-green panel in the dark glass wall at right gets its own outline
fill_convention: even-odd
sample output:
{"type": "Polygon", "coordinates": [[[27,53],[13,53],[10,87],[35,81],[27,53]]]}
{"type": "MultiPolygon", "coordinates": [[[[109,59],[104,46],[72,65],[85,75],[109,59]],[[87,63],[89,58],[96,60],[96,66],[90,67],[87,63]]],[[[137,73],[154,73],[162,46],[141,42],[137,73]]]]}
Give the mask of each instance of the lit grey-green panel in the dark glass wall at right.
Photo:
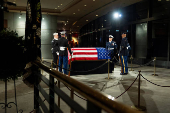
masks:
{"type": "Polygon", "coordinates": [[[135,57],[146,58],[147,55],[147,23],[136,25],[135,57]]]}

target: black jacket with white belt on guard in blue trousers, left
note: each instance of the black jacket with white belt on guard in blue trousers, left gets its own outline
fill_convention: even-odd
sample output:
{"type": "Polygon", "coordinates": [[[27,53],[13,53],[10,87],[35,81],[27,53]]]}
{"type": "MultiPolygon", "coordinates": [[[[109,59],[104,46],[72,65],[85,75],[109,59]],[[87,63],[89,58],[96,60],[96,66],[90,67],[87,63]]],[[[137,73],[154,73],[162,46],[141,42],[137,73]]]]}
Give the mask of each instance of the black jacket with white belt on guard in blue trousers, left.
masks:
{"type": "Polygon", "coordinates": [[[64,37],[61,37],[58,40],[58,45],[59,45],[59,56],[68,56],[67,48],[68,48],[70,54],[72,53],[70,46],[68,44],[68,40],[65,39],[64,37]]]}

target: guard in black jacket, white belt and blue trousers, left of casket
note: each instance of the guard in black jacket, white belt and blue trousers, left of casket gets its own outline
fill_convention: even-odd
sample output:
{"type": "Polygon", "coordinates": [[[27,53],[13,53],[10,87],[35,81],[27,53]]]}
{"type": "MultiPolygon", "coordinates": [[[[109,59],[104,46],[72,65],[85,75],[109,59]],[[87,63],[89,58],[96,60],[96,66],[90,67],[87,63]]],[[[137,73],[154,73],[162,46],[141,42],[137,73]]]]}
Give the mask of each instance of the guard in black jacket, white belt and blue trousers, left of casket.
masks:
{"type": "Polygon", "coordinates": [[[62,72],[62,64],[64,68],[64,74],[67,75],[68,66],[68,51],[72,54],[68,40],[65,38],[65,32],[61,32],[61,38],[58,41],[59,44],[59,71],[62,72]]]}

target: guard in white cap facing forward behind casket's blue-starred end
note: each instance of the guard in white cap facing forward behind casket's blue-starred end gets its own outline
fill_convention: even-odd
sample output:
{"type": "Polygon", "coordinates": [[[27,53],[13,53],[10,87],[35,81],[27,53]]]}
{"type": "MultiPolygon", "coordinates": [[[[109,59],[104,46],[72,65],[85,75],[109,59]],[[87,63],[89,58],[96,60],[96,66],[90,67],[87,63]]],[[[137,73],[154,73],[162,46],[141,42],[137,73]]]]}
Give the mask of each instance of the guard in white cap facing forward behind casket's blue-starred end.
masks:
{"type": "Polygon", "coordinates": [[[108,56],[111,58],[111,66],[114,67],[114,51],[117,49],[117,44],[113,41],[113,38],[112,35],[109,35],[109,42],[106,42],[106,50],[108,51],[108,56]]]}

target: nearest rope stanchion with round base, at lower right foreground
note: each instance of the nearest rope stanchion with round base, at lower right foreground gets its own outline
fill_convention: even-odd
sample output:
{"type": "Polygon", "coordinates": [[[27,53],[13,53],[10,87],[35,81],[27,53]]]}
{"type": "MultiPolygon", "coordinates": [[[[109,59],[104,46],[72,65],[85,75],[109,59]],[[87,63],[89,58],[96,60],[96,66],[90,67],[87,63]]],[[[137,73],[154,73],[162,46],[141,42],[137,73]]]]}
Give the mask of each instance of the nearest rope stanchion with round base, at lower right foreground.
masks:
{"type": "Polygon", "coordinates": [[[138,71],[138,72],[139,72],[139,79],[138,79],[139,80],[138,81],[138,105],[132,106],[132,108],[134,108],[134,109],[136,109],[138,111],[145,111],[146,107],[140,105],[140,76],[141,76],[140,72],[141,71],[138,71]]]}

